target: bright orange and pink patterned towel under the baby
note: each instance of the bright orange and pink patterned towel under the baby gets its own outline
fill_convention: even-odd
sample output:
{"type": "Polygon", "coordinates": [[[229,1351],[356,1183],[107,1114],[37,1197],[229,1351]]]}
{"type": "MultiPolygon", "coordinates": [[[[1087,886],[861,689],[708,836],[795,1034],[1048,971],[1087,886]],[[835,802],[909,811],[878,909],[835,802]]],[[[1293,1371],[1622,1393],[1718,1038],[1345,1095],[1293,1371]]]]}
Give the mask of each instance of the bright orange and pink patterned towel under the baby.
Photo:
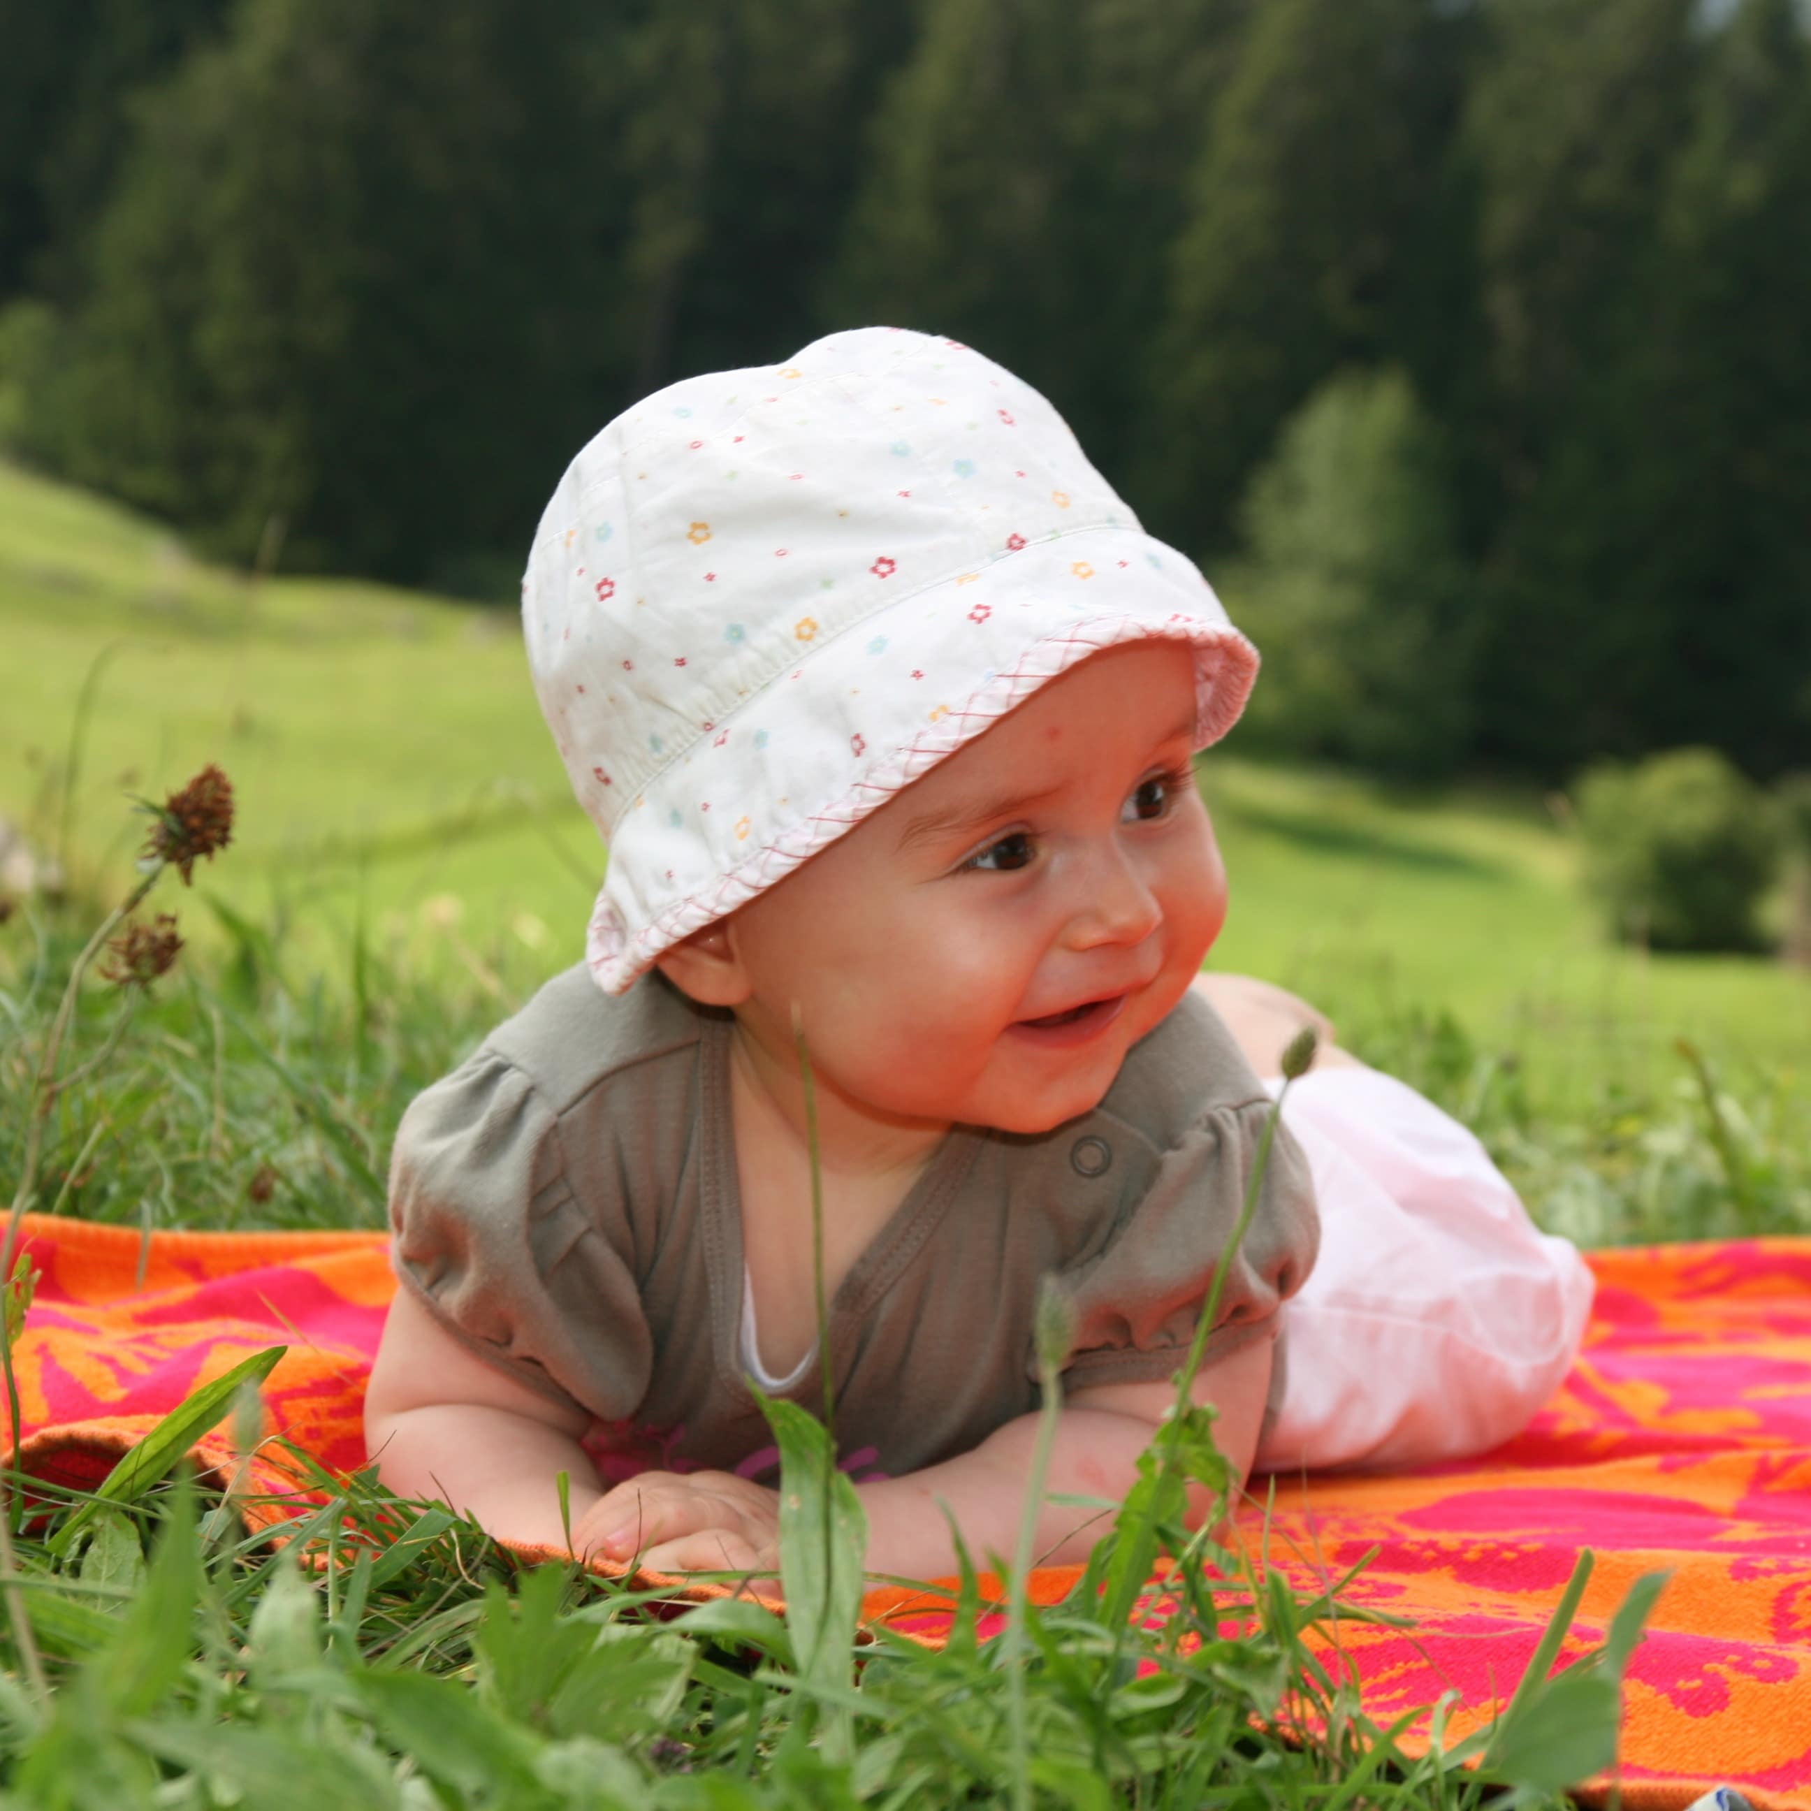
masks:
{"type": "MultiPolygon", "coordinates": [[[[16,1353],[24,1463],[92,1483],[192,1389],[288,1346],[273,1431],[330,1469],[364,1461],[360,1404],[393,1282],[373,1233],[154,1233],[29,1217],[42,1270],[16,1353]]],[[[1518,1440],[1458,1465],[1279,1480],[1266,1557],[1304,1588],[1373,1548],[1347,1597],[1413,1630],[1344,1624],[1380,1722],[1456,1691],[1490,1715],[1572,1574],[1597,1552],[1565,1659],[1666,1568],[1626,1679],[1623,1800],[1684,1807],[1735,1786],[1811,1811],[1811,1239],[1650,1246],[1592,1257],[1597,1306],[1561,1391],[1518,1440]]],[[[226,1431],[203,1465],[232,1465],[226,1431]]],[[[263,1467],[261,1489],[286,1480],[263,1467]]],[[[1260,1510],[1244,1518],[1260,1538],[1260,1510]]],[[[1036,1595],[1074,1572],[1049,1568],[1036,1595]]],[[[924,1639],[925,1599],[871,1615],[924,1639]]]]}

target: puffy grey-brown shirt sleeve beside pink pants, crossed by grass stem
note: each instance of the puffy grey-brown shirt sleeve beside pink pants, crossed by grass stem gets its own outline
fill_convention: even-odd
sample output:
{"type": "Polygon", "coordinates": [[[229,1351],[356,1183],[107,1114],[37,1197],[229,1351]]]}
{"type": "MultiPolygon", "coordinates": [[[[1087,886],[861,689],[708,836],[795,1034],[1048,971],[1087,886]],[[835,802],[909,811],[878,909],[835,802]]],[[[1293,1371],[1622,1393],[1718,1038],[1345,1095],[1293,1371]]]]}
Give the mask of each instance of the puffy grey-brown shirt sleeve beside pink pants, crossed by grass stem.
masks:
{"type": "MultiPolygon", "coordinates": [[[[1188,1355],[1213,1270],[1231,1244],[1271,1103],[1217,1107],[1161,1157],[1105,1250],[1065,1275],[1076,1338],[1072,1389],[1172,1376],[1188,1355]]],[[[1270,1338],[1277,1309],[1308,1277],[1320,1244],[1300,1146],[1277,1126],[1244,1239],[1233,1251],[1206,1362],[1270,1338]]]]}

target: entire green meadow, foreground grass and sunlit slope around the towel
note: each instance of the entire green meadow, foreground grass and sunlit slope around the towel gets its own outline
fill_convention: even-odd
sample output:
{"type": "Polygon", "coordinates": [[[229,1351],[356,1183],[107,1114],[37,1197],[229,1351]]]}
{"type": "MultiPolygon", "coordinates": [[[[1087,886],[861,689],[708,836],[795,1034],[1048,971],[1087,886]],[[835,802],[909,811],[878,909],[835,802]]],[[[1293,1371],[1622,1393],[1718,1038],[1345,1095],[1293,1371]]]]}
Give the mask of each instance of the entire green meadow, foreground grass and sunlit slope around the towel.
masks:
{"type": "MultiPolygon", "coordinates": [[[[150,996],[80,991],[63,1067],[85,1074],[45,1121],[34,1204],[380,1224],[404,1103],[576,958],[601,864],[511,612],[216,570],[0,467],[0,817],[69,880],[0,925],[0,1175],[24,1166],[71,965],[130,884],[130,795],[214,761],[232,846],[190,891],[161,880],[150,909],[179,911],[190,947],[150,996]]],[[[1219,752],[1201,784],[1233,877],[1215,963],[1315,998],[1474,1125],[1543,1222],[1585,1242],[1811,1231],[1811,976],[1608,947],[1550,800],[1219,752]]],[[[828,1514],[797,1438],[800,1501],[828,1514]]],[[[1213,1474],[1206,1442],[1172,1460],[1170,1485],[1213,1474]]],[[[1538,1710],[1588,1753],[1614,1742],[1617,1653],[1541,1686],[1559,1699],[1536,1691],[1480,1775],[1405,1757],[1317,1673],[1304,1632],[1327,1606],[1259,1590],[1233,1556],[1172,1623],[1206,1659],[1128,1634],[1110,1581],[1188,1539],[1159,1489],[1107,1538],[1099,1601],[1012,1605],[1007,1641],[940,1657],[882,1641],[855,1690],[853,1624],[826,1643],[752,1605],[650,1623],[616,1586],[516,1579],[369,1476],[281,1552],[179,1481],[141,1485],[87,1512],[85,1545],[62,1538],[76,1498],[11,1525],[0,1804],[1472,1806],[1490,1782],[1541,1804],[1568,1775],[1527,1739],[1538,1710]]],[[[790,1539],[795,1567],[833,1547],[824,1523],[790,1539]]]]}

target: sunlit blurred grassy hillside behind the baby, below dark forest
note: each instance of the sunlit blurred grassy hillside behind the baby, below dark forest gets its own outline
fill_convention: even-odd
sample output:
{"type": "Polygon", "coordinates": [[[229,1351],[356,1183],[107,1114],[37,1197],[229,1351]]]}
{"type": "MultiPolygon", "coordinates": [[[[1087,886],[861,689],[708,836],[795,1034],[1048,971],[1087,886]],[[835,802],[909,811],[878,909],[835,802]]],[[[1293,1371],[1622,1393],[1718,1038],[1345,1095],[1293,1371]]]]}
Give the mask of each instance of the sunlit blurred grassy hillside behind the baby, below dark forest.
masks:
{"type": "MultiPolygon", "coordinates": [[[[0,817],[67,844],[78,884],[125,875],[125,793],[217,761],[241,829],[196,891],[286,927],[308,960],[339,967],[359,918],[429,963],[523,973],[578,954],[601,855],[513,614],[255,583],[0,467],[0,817]]],[[[1203,786],[1233,877],[1215,962],[1302,989],[1360,1040],[1451,1012],[1485,1045],[1538,1052],[1557,1090],[1606,1074],[1650,1087],[1679,1034],[1730,1063],[1811,1070],[1811,978],[1605,947],[1536,799],[1404,800],[1237,753],[1210,755],[1203,786]]]]}

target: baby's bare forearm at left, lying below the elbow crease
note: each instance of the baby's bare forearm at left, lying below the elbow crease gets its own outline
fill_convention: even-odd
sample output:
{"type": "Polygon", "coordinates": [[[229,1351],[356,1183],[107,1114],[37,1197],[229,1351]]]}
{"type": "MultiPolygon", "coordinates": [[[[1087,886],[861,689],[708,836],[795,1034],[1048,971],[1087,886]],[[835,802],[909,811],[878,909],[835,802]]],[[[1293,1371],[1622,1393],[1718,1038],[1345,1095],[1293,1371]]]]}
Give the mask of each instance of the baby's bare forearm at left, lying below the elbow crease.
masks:
{"type": "Polygon", "coordinates": [[[371,1456],[391,1490],[438,1498],[507,1541],[565,1550],[560,1472],[570,1481],[574,1527],[603,1494],[578,1440],[507,1409],[467,1402],[402,1409],[373,1436],[371,1456]]]}

